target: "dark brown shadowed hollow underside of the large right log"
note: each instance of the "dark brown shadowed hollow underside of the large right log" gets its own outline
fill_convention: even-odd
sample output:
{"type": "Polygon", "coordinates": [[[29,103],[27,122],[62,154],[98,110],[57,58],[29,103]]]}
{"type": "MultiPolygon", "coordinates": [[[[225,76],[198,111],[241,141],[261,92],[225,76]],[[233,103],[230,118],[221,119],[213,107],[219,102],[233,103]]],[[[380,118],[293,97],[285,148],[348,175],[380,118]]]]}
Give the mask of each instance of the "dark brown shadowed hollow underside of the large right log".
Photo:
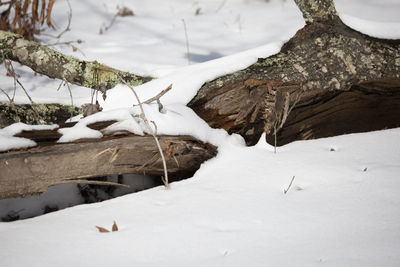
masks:
{"type": "MultiPolygon", "coordinates": [[[[278,131],[277,145],[400,127],[400,87],[387,86],[364,83],[298,104],[278,131]]],[[[267,135],[267,142],[274,144],[275,136],[267,135]]]]}

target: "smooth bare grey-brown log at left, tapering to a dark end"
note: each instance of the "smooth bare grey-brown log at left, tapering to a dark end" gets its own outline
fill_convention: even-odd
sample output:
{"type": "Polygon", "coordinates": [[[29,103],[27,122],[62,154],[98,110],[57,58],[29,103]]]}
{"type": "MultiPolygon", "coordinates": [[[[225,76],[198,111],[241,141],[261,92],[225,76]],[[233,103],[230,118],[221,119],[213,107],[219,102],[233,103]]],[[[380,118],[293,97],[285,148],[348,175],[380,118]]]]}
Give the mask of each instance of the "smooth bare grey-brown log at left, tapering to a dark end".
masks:
{"type": "MultiPolygon", "coordinates": [[[[217,153],[216,147],[190,136],[160,136],[159,140],[172,181],[192,176],[217,153]]],[[[50,186],[82,178],[127,173],[163,175],[152,136],[125,134],[77,143],[44,143],[0,154],[0,199],[40,194],[50,186]]]]}

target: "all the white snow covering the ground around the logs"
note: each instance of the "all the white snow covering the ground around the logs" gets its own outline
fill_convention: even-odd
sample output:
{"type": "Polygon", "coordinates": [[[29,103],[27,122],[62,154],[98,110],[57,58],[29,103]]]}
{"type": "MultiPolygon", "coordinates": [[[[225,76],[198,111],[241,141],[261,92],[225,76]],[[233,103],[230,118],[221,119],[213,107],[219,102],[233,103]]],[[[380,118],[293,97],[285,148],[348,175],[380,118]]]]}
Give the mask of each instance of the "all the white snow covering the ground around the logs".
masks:
{"type": "MultiPolygon", "coordinates": [[[[368,29],[375,25],[371,35],[379,27],[400,23],[396,0],[335,2],[354,28],[362,30],[357,28],[360,21],[369,22],[368,29]]],[[[400,264],[400,129],[295,142],[274,154],[263,138],[257,146],[246,147],[239,136],[209,129],[184,107],[204,81],[279,51],[280,44],[304,25],[292,1],[88,0],[71,5],[72,30],[63,40],[82,39],[78,47],[85,55],[70,47],[57,49],[159,77],[137,88],[143,99],[173,82],[173,90],[162,99],[167,112],[158,114],[151,106],[148,112],[159,119],[160,130],[170,133],[174,129],[162,121],[166,116],[179,118],[176,132],[191,131],[217,144],[219,153],[193,178],[173,183],[170,190],[155,187],[0,223],[1,266],[400,264]],[[117,5],[136,15],[117,18],[99,35],[117,5]],[[200,14],[195,15],[198,8],[200,14]],[[99,233],[95,228],[110,228],[114,220],[118,232],[99,233]]],[[[67,4],[57,1],[54,8],[55,24],[62,29],[67,4]]],[[[400,38],[400,27],[394,29],[386,36],[400,38]]],[[[16,67],[34,101],[69,103],[68,91],[56,90],[58,81],[16,67]]],[[[0,76],[0,87],[12,92],[12,80],[0,76]]],[[[85,88],[73,86],[73,95],[76,104],[90,102],[85,88]]],[[[106,110],[128,107],[131,97],[125,87],[117,86],[101,104],[106,110]]],[[[1,95],[0,101],[7,99],[1,95]]],[[[19,89],[16,101],[27,102],[19,89]]]]}

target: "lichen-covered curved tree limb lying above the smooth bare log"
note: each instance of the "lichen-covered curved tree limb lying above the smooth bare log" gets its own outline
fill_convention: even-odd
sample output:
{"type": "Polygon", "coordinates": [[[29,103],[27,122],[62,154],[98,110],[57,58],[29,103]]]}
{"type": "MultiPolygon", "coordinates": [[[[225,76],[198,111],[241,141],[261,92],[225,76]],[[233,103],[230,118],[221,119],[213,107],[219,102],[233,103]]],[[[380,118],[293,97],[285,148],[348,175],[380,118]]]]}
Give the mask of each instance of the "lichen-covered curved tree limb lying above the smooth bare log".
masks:
{"type": "Polygon", "coordinates": [[[102,91],[120,83],[118,75],[133,86],[151,79],[116,70],[97,61],[66,56],[37,42],[28,41],[21,35],[5,31],[0,31],[0,50],[5,58],[28,66],[37,73],[102,91]],[[102,69],[112,69],[114,72],[102,69]]]}

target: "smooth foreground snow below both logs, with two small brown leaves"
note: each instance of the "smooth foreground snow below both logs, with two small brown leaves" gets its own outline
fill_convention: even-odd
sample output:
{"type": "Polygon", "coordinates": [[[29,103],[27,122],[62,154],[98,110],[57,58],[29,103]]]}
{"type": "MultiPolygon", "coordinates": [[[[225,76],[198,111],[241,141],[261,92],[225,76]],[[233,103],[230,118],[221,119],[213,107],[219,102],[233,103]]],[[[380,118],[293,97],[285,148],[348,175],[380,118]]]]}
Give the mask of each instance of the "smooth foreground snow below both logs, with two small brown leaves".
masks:
{"type": "Polygon", "coordinates": [[[0,223],[2,265],[397,266],[399,138],[226,144],[169,190],[0,223]]]}

